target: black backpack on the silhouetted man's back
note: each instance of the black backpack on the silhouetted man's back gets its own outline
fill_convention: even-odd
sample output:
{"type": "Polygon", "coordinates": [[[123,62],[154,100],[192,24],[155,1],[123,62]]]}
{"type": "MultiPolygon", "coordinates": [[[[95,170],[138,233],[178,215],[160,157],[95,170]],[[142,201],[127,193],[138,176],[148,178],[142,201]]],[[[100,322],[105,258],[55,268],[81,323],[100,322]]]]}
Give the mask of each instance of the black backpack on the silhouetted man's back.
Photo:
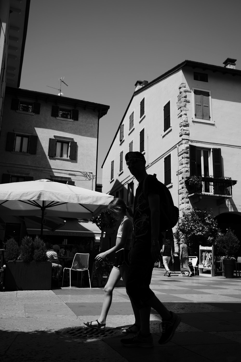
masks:
{"type": "MultiPolygon", "coordinates": [[[[155,177],[148,175],[147,177],[155,177]]],[[[145,193],[145,182],[146,178],[143,180],[143,196],[147,200],[145,193]]],[[[178,222],[179,219],[179,210],[178,207],[174,206],[172,195],[162,182],[158,181],[159,184],[159,196],[160,196],[160,232],[165,232],[169,229],[172,229],[178,222]]]]}

